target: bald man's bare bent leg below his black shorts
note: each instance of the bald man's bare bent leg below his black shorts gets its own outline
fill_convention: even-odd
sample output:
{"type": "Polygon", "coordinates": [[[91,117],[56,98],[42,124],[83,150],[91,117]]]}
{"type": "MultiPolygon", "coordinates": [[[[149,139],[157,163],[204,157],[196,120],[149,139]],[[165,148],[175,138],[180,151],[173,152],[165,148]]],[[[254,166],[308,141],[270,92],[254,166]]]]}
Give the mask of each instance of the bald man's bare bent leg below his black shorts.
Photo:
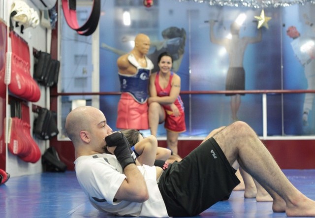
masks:
{"type": "Polygon", "coordinates": [[[252,128],[235,122],[214,135],[226,158],[240,166],[261,184],[273,197],[273,210],[284,210],[287,216],[314,216],[315,201],[306,197],[286,178],[267,148],[252,128]],[[285,201],[285,207],[283,201],[285,201]]]}

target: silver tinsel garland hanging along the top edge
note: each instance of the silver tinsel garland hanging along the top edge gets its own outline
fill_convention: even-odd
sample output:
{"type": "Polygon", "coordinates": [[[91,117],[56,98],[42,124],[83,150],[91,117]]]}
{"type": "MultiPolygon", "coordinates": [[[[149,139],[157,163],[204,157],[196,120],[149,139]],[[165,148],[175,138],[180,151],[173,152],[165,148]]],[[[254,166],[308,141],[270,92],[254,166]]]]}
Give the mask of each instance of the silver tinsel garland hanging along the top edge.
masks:
{"type": "Polygon", "coordinates": [[[208,3],[211,6],[233,6],[233,7],[253,7],[253,8],[267,8],[267,7],[286,7],[293,4],[304,5],[307,3],[315,3],[315,0],[179,0],[179,1],[193,1],[197,3],[208,3]]]}

